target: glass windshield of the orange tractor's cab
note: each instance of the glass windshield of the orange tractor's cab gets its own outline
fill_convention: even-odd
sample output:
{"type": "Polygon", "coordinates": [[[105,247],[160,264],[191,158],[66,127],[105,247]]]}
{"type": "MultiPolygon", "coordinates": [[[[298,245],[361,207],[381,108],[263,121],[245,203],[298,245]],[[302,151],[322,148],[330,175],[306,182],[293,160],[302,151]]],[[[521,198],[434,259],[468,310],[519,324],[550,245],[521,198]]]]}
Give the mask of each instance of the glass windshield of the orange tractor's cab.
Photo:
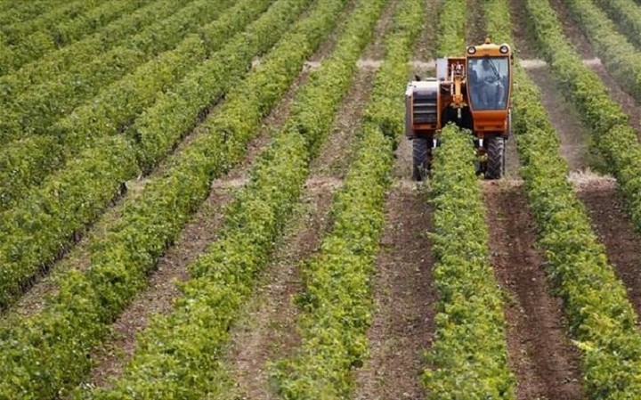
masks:
{"type": "Polygon", "coordinates": [[[473,110],[507,107],[507,57],[477,57],[467,61],[467,90],[473,110]]]}

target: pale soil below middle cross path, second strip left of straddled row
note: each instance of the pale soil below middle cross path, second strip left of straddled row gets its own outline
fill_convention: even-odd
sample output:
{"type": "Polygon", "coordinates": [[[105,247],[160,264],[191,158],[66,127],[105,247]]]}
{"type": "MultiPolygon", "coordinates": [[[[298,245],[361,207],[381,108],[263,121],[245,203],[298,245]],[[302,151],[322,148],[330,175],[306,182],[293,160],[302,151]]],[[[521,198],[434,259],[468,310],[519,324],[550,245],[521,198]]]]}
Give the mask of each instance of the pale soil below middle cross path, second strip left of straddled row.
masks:
{"type": "Polygon", "coordinates": [[[305,191],[297,211],[300,215],[288,226],[288,236],[266,269],[245,316],[232,329],[226,363],[236,382],[233,398],[278,398],[269,383],[270,363],[291,355],[300,342],[293,301],[302,290],[299,265],[318,248],[327,231],[332,197],[333,190],[323,186],[305,191]]]}

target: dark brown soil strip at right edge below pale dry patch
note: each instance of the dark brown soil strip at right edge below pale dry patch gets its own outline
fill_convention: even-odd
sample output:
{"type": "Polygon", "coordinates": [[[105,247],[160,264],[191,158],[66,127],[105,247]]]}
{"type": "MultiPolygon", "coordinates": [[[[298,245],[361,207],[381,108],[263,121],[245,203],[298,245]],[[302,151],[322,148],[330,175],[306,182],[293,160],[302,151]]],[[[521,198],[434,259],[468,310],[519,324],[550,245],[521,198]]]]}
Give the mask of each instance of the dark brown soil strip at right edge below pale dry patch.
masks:
{"type": "Polygon", "coordinates": [[[593,181],[576,187],[588,209],[592,229],[605,246],[617,276],[628,288],[628,297],[641,314],[641,237],[629,221],[613,181],[593,181]]]}

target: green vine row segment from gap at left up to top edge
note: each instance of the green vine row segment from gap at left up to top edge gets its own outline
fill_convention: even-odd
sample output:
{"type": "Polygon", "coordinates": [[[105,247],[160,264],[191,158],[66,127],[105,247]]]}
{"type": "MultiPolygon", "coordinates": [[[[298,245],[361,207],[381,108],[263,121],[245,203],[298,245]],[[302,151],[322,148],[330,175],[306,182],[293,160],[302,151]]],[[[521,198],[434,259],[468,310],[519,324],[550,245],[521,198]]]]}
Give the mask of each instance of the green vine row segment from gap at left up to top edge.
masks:
{"type": "MultiPolygon", "coordinates": [[[[279,2],[246,32],[226,40],[223,49],[187,75],[180,85],[161,94],[144,110],[127,135],[149,171],[172,151],[198,119],[250,69],[252,60],[269,50],[292,22],[292,14],[309,2],[279,2]]],[[[209,41],[214,40],[209,37],[209,41]]],[[[224,37],[216,37],[221,40],[224,37]]]]}

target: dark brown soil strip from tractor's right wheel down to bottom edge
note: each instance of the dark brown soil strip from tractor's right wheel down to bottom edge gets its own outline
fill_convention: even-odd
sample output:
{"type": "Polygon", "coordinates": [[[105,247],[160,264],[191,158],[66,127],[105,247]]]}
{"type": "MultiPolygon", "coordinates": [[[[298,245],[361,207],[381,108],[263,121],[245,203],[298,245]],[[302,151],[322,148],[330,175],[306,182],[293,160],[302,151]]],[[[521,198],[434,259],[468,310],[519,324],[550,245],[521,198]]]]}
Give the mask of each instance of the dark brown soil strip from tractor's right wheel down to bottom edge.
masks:
{"type": "Polygon", "coordinates": [[[507,290],[507,347],[517,398],[581,398],[580,354],[565,336],[561,300],[548,294],[544,259],[522,186],[483,185],[491,264],[507,290]]]}

